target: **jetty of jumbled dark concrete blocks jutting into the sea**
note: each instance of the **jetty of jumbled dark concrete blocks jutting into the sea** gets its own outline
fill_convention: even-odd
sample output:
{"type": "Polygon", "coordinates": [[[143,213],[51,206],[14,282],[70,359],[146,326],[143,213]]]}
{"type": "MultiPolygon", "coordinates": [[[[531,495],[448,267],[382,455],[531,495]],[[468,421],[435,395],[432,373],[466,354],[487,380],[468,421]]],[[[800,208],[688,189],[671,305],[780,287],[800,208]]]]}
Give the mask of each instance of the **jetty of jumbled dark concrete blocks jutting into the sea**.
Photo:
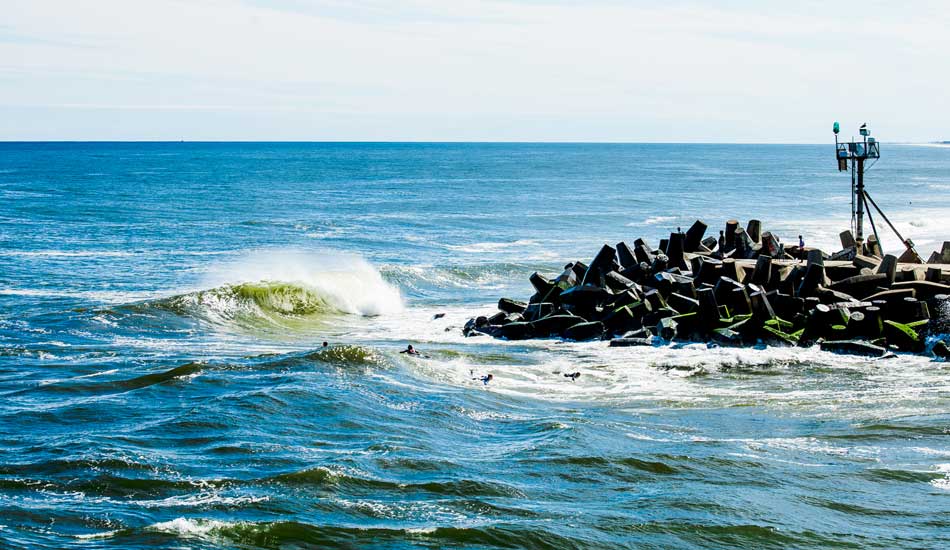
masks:
{"type": "Polygon", "coordinates": [[[842,250],[826,254],[786,246],[758,220],[745,228],[729,220],[718,238],[706,230],[697,220],[656,248],[644,239],[605,244],[553,278],[533,273],[527,302],[502,298],[497,313],[470,319],[463,332],[950,356],[946,342],[928,338],[950,332],[950,242],[924,264],[907,263],[920,261],[916,253],[883,255],[873,237],[859,246],[850,231],[842,250]]]}

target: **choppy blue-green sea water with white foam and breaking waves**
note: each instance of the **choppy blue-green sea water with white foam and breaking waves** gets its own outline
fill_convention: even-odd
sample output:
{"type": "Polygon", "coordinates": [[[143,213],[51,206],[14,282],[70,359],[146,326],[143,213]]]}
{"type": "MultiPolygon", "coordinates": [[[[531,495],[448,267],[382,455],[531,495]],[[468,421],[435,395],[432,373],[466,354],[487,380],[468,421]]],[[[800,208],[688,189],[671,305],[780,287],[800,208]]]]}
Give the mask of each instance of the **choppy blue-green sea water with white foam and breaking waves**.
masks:
{"type": "MultiPolygon", "coordinates": [[[[927,255],[950,148],[883,154],[927,255]]],[[[0,144],[0,546],[946,547],[946,363],[461,335],[696,218],[832,250],[849,193],[831,146],[0,144]]]]}

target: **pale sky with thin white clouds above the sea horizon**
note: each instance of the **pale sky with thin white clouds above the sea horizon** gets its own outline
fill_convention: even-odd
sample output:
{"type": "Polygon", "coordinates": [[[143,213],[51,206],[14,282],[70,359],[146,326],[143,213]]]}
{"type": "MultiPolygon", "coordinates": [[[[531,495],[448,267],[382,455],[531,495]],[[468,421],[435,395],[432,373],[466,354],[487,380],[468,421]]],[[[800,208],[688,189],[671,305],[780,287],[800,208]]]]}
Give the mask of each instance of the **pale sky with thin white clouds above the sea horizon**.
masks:
{"type": "Polygon", "coordinates": [[[0,140],[950,140],[950,2],[3,0],[0,140]]]}

